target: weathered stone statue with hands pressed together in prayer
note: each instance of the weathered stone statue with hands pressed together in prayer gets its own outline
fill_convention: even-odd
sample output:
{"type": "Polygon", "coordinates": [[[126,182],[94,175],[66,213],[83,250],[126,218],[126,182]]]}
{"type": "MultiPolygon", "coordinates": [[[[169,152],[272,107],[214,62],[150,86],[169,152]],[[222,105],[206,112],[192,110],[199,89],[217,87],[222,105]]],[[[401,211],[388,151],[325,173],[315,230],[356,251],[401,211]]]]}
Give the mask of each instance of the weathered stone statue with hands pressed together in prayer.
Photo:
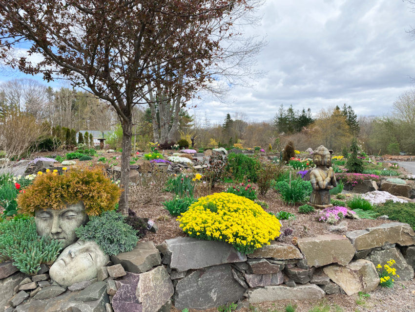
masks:
{"type": "Polygon", "coordinates": [[[324,209],[332,207],[330,193],[333,187],[337,186],[332,165],[332,151],[320,145],[312,156],[316,167],[310,173],[312,193],[310,204],[315,208],[324,209]]]}

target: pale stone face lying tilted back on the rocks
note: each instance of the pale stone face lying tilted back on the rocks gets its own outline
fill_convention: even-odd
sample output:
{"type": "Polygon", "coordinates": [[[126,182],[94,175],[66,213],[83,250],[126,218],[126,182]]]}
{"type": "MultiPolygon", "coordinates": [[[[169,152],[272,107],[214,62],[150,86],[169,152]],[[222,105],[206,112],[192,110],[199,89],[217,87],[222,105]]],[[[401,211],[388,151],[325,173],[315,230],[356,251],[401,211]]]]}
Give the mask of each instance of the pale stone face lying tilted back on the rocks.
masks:
{"type": "Polygon", "coordinates": [[[87,281],[97,277],[98,269],[109,262],[99,245],[93,241],[78,241],[63,249],[49,269],[49,275],[61,286],[87,281]]]}

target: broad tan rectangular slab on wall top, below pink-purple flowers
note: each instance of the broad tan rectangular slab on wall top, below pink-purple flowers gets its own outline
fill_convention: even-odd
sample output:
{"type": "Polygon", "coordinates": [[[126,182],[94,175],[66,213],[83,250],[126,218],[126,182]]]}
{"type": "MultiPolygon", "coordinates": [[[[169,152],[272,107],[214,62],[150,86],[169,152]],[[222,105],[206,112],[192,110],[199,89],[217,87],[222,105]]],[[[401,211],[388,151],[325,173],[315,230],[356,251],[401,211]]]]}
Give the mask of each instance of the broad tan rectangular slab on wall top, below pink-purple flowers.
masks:
{"type": "Polygon", "coordinates": [[[298,239],[298,248],[309,267],[323,267],[331,263],[345,266],[353,259],[355,252],[346,237],[335,234],[298,239]]]}

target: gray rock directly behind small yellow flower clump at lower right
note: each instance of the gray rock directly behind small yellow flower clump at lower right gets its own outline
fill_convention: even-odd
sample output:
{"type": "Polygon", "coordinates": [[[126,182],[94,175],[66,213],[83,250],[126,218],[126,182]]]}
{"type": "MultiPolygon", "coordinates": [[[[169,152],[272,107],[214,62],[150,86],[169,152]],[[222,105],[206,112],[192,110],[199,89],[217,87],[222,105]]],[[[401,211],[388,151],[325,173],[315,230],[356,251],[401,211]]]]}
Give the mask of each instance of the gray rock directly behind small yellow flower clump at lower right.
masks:
{"type": "Polygon", "coordinates": [[[392,259],[396,262],[393,267],[396,269],[396,274],[399,275],[400,280],[409,281],[414,277],[414,269],[406,263],[405,258],[396,248],[372,251],[366,257],[366,260],[371,261],[375,266],[380,264],[382,267],[392,259]]]}

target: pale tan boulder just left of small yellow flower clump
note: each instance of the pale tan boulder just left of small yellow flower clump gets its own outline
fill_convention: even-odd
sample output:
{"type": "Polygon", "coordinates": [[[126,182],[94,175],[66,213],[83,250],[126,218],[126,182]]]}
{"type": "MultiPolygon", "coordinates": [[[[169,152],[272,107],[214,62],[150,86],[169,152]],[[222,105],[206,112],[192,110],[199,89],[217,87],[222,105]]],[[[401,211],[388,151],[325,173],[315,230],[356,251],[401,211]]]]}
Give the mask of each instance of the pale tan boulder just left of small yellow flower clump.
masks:
{"type": "Polygon", "coordinates": [[[376,268],[372,262],[364,259],[358,259],[347,266],[324,267],[323,271],[349,296],[359,291],[375,290],[379,284],[376,268]]]}

